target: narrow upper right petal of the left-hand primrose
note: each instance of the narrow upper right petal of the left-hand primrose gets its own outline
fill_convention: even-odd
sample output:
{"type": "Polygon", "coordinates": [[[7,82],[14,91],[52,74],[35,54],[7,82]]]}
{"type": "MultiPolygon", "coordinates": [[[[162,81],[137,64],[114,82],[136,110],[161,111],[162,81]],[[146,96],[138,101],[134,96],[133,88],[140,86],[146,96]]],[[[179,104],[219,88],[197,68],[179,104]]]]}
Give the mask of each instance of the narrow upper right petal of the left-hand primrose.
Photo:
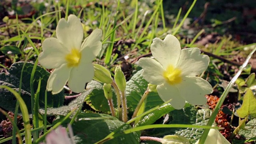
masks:
{"type": "Polygon", "coordinates": [[[82,58],[86,58],[88,61],[92,61],[100,52],[102,48],[102,30],[96,29],[92,31],[81,46],[82,58]]]}

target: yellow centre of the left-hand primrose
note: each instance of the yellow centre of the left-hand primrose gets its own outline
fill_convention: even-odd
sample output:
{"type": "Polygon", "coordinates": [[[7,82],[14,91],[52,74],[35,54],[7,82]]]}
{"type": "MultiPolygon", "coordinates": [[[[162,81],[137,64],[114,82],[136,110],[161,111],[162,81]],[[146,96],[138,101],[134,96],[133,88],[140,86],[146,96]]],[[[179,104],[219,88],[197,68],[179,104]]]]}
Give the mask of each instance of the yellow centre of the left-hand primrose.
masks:
{"type": "Polygon", "coordinates": [[[66,55],[65,59],[68,62],[68,67],[76,67],[80,63],[81,52],[76,48],[72,48],[71,52],[66,55]]]}

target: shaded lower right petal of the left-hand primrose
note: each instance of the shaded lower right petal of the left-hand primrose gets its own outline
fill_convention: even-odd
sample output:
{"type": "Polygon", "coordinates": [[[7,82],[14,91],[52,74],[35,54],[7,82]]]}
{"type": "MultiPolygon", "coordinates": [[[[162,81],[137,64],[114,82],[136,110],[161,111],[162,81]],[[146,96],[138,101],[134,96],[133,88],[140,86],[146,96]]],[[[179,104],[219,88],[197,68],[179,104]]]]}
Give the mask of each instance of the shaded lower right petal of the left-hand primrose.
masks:
{"type": "Polygon", "coordinates": [[[74,67],[68,80],[69,88],[76,93],[84,90],[86,82],[90,82],[94,76],[94,67],[92,63],[80,63],[74,67]]]}

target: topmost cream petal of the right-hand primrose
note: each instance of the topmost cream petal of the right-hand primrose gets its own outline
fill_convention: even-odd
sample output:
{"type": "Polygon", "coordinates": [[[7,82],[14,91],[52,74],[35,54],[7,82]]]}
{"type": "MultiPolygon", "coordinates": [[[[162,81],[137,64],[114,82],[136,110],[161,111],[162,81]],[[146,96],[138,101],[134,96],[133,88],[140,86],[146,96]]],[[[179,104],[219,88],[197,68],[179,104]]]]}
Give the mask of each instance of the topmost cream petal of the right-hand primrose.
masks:
{"type": "Polygon", "coordinates": [[[154,58],[156,58],[164,68],[170,64],[176,66],[181,53],[179,40],[171,34],[168,34],[164,40],[154,38],[150,50],[154,58]]]}

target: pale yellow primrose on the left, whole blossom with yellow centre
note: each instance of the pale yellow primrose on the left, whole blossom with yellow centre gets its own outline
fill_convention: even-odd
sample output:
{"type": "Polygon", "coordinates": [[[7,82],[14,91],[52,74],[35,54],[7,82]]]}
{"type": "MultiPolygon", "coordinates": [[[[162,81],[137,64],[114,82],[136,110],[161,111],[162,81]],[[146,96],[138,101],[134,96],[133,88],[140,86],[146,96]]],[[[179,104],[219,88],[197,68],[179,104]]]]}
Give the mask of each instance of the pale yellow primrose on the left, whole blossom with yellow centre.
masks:
{"type": "Polygon", "coordinates": [[[84,90],[86,82],[94,76],[92,60],[102,48],[102,30],[96,29],[84,42],[83,28],[79,18],[68,16],[60,19],[56,28],[57,38],[47,38],[42,43],[43,52],[38,61],[45,68],[54,68],[47,82],[47,90],[57,94],[68,82],[76,93],[84,90]]]}

